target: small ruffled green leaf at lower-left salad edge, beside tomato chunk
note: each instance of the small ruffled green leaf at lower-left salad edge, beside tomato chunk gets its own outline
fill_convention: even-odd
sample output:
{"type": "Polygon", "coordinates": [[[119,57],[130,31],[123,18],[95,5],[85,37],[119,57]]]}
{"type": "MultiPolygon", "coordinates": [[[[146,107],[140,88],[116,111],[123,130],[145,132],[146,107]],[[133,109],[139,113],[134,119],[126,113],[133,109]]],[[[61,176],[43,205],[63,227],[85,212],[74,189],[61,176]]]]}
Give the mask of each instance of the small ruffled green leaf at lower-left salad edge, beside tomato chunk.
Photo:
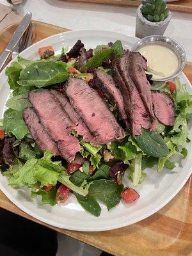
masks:
{"type": "Polygon", "coordinates": [[[32,191],[31,192],[31,197],[36,197],[36,196],[42,196],[42,203],[43,204],[51,204],[52,206],[56,205],[56,193],[57,193],[57,188],[56,186],[53,187],[49,191],[45,190],[40,190],[40,191],[32,191]]]}

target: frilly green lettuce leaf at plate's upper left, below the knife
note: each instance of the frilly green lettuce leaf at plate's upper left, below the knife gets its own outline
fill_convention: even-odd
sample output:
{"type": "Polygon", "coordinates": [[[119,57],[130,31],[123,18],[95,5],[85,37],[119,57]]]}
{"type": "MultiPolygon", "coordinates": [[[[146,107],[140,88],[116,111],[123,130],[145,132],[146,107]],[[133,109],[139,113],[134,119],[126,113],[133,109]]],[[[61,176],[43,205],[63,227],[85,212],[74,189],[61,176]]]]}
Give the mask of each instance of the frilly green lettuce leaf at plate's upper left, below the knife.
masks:
{"type": "Polygon", "coordinates": [[[19,87],[17,81],[19,80],[21,70],[22,67],[17,62],[12,62],[12,64],[6,68],[5,74],[8,76],[8,83],[10,84],[11,90],[15,90],[19,87]]]}

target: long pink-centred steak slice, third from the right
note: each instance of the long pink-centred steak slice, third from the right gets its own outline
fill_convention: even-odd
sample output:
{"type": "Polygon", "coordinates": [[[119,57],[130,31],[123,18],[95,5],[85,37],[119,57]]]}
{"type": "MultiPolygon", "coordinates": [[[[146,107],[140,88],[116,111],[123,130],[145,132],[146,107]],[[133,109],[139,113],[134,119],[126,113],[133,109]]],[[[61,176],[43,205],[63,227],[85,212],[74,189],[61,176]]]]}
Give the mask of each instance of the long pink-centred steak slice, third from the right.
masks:
{"type": "Polygon", "coordinates": [[[131,123],[132,135],[140,135],[141,127],[150,129],[151,123],[140,93],[129,75],[129,52],[113,63],[113,77],[124,97],[125,111],[131,123]]]}

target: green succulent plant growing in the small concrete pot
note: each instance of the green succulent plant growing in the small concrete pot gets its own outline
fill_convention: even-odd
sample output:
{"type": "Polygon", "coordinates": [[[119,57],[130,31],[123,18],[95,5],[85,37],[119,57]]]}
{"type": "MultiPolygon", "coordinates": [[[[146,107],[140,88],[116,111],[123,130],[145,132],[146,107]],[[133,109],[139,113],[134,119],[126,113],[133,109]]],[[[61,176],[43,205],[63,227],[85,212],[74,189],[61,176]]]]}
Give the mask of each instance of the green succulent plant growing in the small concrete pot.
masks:
{"type": "Polygon", "coordinates": [[[169,9],[164,0],[143,0],[142,4],[141,13],[145,19],[158,22],[168,17],[169,9]]]}

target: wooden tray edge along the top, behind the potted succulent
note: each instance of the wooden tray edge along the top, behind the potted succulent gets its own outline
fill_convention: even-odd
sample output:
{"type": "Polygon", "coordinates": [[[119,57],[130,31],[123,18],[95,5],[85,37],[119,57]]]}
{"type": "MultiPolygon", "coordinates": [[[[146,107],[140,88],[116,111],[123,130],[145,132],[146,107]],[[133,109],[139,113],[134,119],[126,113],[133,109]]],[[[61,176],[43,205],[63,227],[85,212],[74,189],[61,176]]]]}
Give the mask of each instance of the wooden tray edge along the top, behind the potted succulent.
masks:
{"type": "MultiPolygon", "coordinates": [[[[83,2],[83,3],[98,3],[98,4],[115,4],[120,6],[138,7],[141,1],[136,0],[67,0],[67,2],[83,2]]],[[[192,12],[192,0],[180,0],[168,3],[170,10],[179,12],[192,12]]]]}

